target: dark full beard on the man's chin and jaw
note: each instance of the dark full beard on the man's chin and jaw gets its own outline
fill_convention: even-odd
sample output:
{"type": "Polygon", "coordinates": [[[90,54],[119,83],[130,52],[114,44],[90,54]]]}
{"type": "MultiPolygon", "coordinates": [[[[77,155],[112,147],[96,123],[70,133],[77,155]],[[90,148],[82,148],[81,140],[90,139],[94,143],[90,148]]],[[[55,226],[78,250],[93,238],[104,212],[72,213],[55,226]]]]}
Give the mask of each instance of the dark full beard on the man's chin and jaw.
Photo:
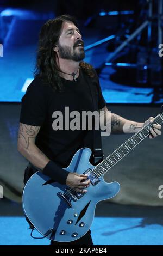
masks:
{"type": "Polygon", "coordinates": [[[78,50],[77,45],[80,44],[80,42],[76,42],[73,46],[73,53],[71,52],[71,47],[69,46],[61,46],[60,44],[58,45],[59,47],[59,56],[62,59],[70,59],[74,60],[74,62],[80,62],[85,58],[85,52],[83,47],[79,47],[78,50]],[[76,51],[77,50],[77,51],[76,51]]]}

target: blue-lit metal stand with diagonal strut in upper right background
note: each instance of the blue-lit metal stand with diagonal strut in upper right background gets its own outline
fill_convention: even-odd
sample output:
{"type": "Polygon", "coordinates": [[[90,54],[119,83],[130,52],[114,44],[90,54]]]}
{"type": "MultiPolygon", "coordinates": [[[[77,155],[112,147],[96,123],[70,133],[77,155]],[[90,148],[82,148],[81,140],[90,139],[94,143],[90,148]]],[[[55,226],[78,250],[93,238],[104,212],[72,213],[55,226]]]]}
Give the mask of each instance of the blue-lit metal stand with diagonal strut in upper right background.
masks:
{"type": "MultiPolygon", "coordinates": [[[[142,4],[143,1],[141,1],[142,4]]],[[[159,45],[163,43],[162,40],[162,19],[163,19],[163,1],[162,0],[146,0],[147,5],[147,19],[136,28],[136,30],[124,40],[114,52],[111,52],[106,58],[106,61],[100,66],[98,74],[105,66],[113,67],[126,67],[136,68],[136,81],[137,84],[150,84],[153,87],[162,86],[162,59],[159,57],[159,45]],[[152,31],[153,27],[156,27],[152,31]],[[140,38],[142,32],[147,29],[147,42],[146,45],[140,45],[140,38]],[[156,33],[156,38],[153,37],[152,32],[156,33]],[[120,52],[124,47],[129,45],[133,39],[137,39],[139,43],[137,51],[136,63],[117,63],[116,59],[120,56],[120,52]]]]}

